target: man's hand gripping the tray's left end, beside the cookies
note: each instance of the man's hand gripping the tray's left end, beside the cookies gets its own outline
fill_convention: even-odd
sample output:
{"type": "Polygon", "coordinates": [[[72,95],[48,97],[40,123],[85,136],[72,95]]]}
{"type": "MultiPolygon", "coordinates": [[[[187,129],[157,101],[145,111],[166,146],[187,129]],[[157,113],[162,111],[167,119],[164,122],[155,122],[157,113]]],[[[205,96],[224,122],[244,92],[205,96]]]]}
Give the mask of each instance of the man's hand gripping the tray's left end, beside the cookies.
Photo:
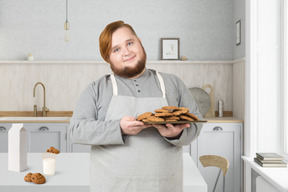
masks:
{"type": "Polygon", "coordinates": [[[151,125],[145,125],[141,121],[136,121],[135,117],[125,116],[120,120],[122,135],[137,135],[147,127],[151,127],[151,125]]]}

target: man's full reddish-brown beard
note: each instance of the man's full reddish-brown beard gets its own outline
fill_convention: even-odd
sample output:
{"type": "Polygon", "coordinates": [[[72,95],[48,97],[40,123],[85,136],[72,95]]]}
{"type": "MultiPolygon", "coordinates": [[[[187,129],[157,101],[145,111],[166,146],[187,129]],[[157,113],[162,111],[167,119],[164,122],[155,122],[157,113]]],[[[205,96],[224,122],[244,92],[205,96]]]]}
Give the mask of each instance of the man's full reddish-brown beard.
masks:
{"type": "Polygon", "coordinates": [[[145,52],[143,46],[142,46],[142,50],[143,50],[143,57],[137,61],[136,66],[134,66],[134,67],[126,66],[122,69],[119,69],[119,68],[115,67],[113,65],[113,63],[110,63],[111,70],[116,75],[118,75],[120,77],[124,77],[124,78],[133,78],[133,77],[141,74],[143,72],[143,70],[145,69],[145,65],[146,65],[146,52],[145,52]]]}

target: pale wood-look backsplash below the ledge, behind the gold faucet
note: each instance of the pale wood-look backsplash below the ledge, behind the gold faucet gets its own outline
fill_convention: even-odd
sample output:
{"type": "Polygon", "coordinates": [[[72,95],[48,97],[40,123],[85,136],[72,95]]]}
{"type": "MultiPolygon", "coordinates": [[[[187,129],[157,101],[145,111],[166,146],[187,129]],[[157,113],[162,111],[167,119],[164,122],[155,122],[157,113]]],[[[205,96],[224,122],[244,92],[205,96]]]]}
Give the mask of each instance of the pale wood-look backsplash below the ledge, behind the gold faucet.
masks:
{"type": "MultiPolygon", "coordinates": [[[[173,73],[190,87],[211,84],[215,89],[215,110],[218,100],[224,100],[224,110],[244,117],[244,64],[238,61],[148,61],[147,68],[173,73]]],[[[73,111],[86,86],[99,77],[111,73],[109,64],[85,61],[0,61],[0,111],[32,111],[43,106],[46,88],[46,106],[52,111],[73,111]]]]}

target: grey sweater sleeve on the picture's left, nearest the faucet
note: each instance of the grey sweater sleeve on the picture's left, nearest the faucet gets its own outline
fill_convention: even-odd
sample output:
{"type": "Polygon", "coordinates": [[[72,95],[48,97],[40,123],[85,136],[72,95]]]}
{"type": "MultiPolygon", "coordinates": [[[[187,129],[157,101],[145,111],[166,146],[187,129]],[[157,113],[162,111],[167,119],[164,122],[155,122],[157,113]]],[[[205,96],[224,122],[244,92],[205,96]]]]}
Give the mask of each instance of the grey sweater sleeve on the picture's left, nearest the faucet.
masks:
{"type": "Polygon", "coordinates": [[[81,94],[70,120],[72,141],[86,145],[124,144],[120,120],[105,121],[103,118],[100,119],[98,100],[99,88],[96,89],[95,85],[90,84],[81,94]]]}

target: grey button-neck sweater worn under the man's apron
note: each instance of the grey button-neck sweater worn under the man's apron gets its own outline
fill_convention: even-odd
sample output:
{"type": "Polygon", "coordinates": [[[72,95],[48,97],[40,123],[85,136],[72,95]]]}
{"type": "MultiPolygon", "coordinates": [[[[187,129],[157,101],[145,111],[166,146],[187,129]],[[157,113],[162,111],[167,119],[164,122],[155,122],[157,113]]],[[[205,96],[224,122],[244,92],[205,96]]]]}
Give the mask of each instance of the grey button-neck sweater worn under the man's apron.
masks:
{"type": "MultiPolygon", "coordinates": [[[[160,74],[164,80],[168,105],[187,107],[191,113],[202,119],[198,106],[184,83],[175,75],[160,74]]],[[[154,70],[146,69],[136,79],[122,78],[117,75],[115,75],[115,78],[118,86],[118,95],[139,98],[162,97],[160,83],[154,70]]],[[[70,136],[74,143],[125,145],[125,139],[121,135],[120,119],[105,121],[112,94],[110,75],[105,75],[92,82],[84,90],[70,120],[70,136]]],[[[179,139],[164,139],[176,146],[189,145],[199,136],[201,128],[202,124],[193,123],[189,128],[183,130],[179,139]]]]}

